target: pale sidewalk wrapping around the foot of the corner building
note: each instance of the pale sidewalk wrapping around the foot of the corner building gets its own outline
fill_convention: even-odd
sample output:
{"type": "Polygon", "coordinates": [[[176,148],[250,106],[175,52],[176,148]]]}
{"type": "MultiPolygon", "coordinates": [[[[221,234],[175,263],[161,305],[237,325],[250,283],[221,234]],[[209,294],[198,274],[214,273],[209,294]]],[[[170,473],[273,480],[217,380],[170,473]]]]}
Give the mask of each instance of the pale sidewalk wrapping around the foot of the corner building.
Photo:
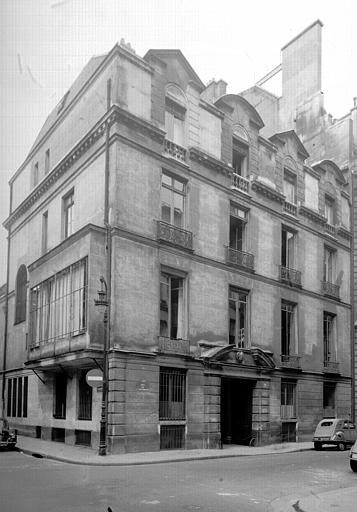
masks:
{"type": "Polygon", "coordinates": [[[296,452],[311,450],[313,448],[313,444],[311,442],[283,443],[262,447],[235,445],[225,447],[221,450],[168,450],[99,456],[98,451],[84,446],[71,446],[64,443],[56,443],[54,441],[43,441],[42,439],[35,439],[33,437],[18,436],[17,448],[23,453],[29,455],[42,456],[44,458],[60,460],[71,464],[127,466],[296,452]]]}

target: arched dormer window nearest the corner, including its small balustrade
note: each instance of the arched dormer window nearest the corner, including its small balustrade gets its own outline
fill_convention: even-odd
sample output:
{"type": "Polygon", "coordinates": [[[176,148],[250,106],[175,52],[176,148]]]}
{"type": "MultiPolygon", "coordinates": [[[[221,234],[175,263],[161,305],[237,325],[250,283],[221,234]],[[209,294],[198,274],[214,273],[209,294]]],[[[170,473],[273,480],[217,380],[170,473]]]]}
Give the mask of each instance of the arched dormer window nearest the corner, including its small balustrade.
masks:
{"type": "Polygon", "coordinates": [[[185,149],[186,98],[175,85],[169,85],[165,95],[164,155],[181,162],[186,161],[185,149]]]}

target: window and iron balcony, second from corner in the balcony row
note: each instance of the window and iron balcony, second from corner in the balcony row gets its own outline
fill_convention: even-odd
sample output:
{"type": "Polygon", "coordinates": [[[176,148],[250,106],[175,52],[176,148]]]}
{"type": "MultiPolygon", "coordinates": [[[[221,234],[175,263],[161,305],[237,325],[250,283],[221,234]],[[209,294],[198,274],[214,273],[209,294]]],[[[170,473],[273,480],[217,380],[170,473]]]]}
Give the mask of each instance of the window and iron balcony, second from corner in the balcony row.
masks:
{"type": "Polygon", "coordinates": [[[249,272],[254,271],[254,255],[244,251],[247,238],[248,211],[231,203],[229,218],[229,246],[226,262],[249,272]]]}

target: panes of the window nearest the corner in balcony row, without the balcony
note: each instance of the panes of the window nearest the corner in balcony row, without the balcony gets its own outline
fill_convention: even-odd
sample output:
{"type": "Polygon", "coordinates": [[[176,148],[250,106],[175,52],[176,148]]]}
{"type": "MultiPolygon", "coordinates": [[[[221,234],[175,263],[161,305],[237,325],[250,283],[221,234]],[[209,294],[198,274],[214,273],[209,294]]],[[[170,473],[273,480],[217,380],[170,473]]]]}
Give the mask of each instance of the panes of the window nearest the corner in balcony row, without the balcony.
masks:
{"type": "Polygon", "coordinates": [[[162,173],[161,220],[178,228],[185,225],[185,184],[177,178],[162,173]]]}

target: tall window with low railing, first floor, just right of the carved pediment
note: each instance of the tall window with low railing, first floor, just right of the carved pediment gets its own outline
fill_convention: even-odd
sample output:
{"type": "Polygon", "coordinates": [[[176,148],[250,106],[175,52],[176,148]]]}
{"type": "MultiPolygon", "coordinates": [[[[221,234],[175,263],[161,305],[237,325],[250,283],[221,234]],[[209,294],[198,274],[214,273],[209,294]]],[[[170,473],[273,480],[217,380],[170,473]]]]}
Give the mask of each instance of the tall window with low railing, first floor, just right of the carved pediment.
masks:
{"type": "Polygon", "coordinates": [[[297,307],[287,301],[281,303],[281,363],[298,365],[297,347],[297,307]]]}

